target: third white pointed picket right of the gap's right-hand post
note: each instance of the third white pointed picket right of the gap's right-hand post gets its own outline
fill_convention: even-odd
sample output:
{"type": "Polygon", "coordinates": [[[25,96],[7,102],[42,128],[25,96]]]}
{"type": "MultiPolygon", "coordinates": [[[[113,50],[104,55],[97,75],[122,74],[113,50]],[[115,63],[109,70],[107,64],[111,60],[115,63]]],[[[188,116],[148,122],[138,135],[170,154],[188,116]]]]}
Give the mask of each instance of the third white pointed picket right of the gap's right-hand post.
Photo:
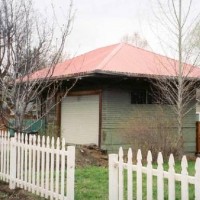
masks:
{"type": "Polygon", "coordinates": [[[142,153],[137,152],[137,200],[142,200],[142,153]]]}

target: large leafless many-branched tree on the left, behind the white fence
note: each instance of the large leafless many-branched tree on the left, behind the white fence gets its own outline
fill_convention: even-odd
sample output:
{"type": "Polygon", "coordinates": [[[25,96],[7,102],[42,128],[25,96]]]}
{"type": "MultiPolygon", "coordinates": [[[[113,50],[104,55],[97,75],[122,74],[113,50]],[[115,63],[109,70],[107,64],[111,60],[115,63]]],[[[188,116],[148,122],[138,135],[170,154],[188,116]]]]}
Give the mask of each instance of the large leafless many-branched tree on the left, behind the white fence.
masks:
{"type": "Polygon", "coordinates": [[[51,109],[42,113],[38,108],[53,98],[60,86],[51,77],[71,30],[72,0],[65,10],[65,24],[56,29],[56,23],[37,17],[32,0],[0,0],[0,115],[4,124],[15,131],[28,130],[30,124],[25,118],[33,114],[33,109],[33,123],[51,109]],[[58,30],[60,37],[55,41],[58,30]],[[31,78],[33,72],[44,67],[43,79],[31,78]]]}

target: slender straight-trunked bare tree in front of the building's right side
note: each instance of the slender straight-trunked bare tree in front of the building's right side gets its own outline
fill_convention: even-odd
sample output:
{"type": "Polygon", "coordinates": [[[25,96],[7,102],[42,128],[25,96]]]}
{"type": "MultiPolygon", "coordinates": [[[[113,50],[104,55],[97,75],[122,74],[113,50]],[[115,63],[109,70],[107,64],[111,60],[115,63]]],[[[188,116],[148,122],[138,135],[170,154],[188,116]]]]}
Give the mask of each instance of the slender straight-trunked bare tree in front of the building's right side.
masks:
{"type": "Polygon", "coordinates": [[[188,37],[192,37],[194,27],[198,23],[198,14],[196,17],[191,17],[192,0],[167,0],[164,2],[156,0],[156,3],[158,10],[155,12],[155,16],[160,27],[164,27],[168,35],[167,40],[161,38],[161,42],[164,44],[163,46],[167,44],[165,49],[170,49],[175,60],[159,60],[164,70],[158,69],[160,76],[155,77],[153,83],[157,88],[157,98],[161,103],[171,105],[177,119],[178,135],[182,141],[184,119],[194,109],[199,76],[199,70],[195,67],[199,53],[194,57],[194,46],[188,45],[188,37]]]}

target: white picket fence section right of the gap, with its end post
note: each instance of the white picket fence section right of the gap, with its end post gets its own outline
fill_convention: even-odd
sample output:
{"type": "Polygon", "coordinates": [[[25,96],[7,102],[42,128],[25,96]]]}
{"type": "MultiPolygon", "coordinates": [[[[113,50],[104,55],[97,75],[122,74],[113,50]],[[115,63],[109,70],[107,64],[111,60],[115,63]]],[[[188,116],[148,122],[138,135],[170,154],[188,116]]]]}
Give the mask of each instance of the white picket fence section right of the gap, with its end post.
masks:
{"type": "Polygon", "coordinates": [[[126,196],[128,200],[175,200],[177,199],[176,184],[181,185],[181,197],[178,199],[189,199],[189,193],[191,192],[189,185],[191,184],[194,189],[194,197],[192,199],[200,200],[200,158],[196,159],[195,175],[189,176],[187,170],[188,162],[185,156],[183,156],[181,161],[182,170],[180,174],[175,172],[175,162],[172,154],[169,157],[168,171],[164,171],[163,169],[163,157],[161,153],[158,154],[156,169],[152,166],[152,154],[150,151],[147,155],[146,166],[142,165],[140,150],[137,152],[137,164],[132,163],[131,149],[128,151],[127,163],[124,163],[123,157],[122,148],[119,149],[119,155],[109,155],[109,200],[122,200],[126,196]],[[124,169],[127,171],[126,187],[124,185],[124,169]],[[156,177],[156,180],[154,177],[156,177]],[[156,187],[157,197],[153,196],[153,187],[156,187]],[[135,188],[135,191],[133,188],[135,188]],[[167,195],[164,192],[165,190],[167,190],[167,195]],[[144,197],[143,193],[145,193],[146,197],[144,197]]]}

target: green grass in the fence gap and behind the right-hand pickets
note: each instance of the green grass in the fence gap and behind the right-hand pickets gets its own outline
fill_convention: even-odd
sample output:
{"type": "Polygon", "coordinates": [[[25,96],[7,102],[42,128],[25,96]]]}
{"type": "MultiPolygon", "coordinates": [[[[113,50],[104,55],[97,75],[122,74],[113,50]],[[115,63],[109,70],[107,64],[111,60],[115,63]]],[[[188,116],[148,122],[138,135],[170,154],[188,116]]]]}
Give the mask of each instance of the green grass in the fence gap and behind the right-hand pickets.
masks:
{"type": "MultiPolygon", "coordinates": [[[[194,175],[194,162],[190,161],[188,163],[188,172],[189,175],[194,175]]],[[[155,167],[155,166],[154,166],[155,167]]],[[[167,170],[167,164],[164,164],[164,169],[167,170]]],[[[181,172],[181,163],[177,162],[175,165],[176,173],[181,172]]],[[[135,183],[136,175],[133,173],[134,186],[133,193],[134,199],[136,199],[136,183],[135,183]]],[[[94,167],[88,166],[85,168],[76,169],[76,177],[75,177],[75,199],[76,200],[107,200],[108,199],[108,169],[103,167],[94,167]]],[[[124,187],[126,189],[126,170],[125,170],[125,178],[124,178],[124,187]]],[[[157,199],[157,179],[153,178],[153,199],[157,199]]],[[[146,199],[146,176],[143,175],[143,199],[146,199]]],[[[167,196],[167,188],[168,182],[165,180],[164,182],[165,188],[165,199],[168,199],[167,196]]],[[[194,199],[194,187],[193,185],[189,186],[189,199],[194,199]]],[[[180,182],[176,183],[176,199],[180,198],[181,185],[180,182]]],[[[126,194],[125,194],[126,197],[126,194]]],[[[126,198],[125,198],[126,199],[126,198]]]]}

